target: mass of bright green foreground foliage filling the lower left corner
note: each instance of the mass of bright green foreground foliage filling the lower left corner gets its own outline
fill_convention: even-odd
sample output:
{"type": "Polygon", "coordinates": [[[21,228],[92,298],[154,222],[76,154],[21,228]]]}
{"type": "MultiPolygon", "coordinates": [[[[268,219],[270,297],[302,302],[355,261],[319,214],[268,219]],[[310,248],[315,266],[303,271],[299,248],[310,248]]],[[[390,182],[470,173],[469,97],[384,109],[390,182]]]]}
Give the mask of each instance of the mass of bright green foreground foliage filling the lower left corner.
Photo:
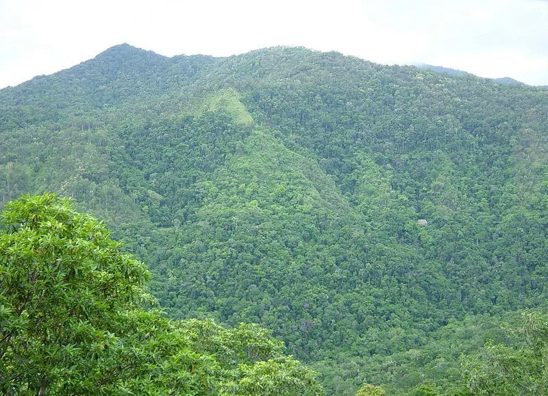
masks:
{"type": "Polygon", "coordinates": [[[318,394],[312,371],[256,325],[145,309],[145,266],[53,194],[5,206],[0,394],[318,394]]]}

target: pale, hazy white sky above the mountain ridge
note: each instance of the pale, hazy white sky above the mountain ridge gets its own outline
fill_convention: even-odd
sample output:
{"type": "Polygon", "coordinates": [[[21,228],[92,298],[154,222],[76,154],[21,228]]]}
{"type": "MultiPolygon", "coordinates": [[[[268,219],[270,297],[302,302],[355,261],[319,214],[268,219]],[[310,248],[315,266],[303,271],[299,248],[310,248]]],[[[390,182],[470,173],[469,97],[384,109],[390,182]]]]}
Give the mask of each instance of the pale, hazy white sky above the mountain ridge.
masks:
{"type": "Polygon", "coordinates": [[[169,56],[299,45],[548,84],[546,0],[0,0],[0,88],[122,42],[169,56]]]}

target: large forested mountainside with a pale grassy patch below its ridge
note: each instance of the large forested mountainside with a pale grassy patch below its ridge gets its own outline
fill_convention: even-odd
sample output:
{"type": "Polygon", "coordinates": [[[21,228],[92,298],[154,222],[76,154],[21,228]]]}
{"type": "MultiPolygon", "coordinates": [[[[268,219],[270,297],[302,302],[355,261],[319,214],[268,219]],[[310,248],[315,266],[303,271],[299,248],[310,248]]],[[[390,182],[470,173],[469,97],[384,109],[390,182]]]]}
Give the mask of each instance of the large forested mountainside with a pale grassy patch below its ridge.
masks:
{"type": "Polygon", "coordinates": [[[327,393],[454,392],[461,354],[545,308],[545,88],[119,45],[0,90],[0,136],[1,202],[74,197],[171,317],[259,323],[327,393]]]}

